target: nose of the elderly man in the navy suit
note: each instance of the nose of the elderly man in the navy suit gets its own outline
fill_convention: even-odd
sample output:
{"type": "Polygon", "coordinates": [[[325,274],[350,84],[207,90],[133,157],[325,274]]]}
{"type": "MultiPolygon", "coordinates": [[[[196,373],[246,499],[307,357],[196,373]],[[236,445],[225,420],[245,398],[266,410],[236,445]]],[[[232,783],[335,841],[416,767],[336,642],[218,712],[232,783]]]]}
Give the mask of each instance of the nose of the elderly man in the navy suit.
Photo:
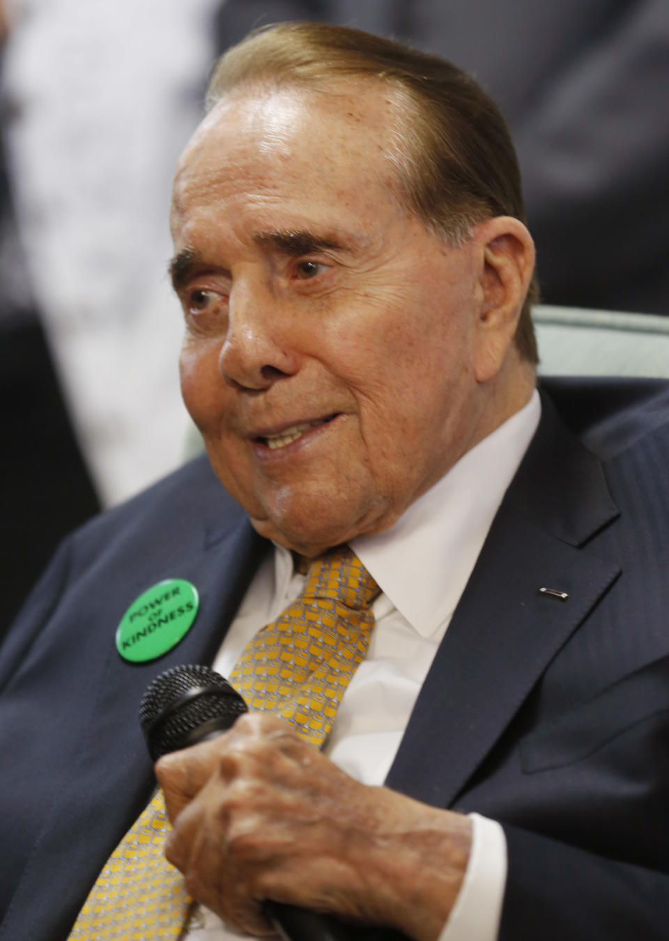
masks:
{"type": "Polygon", "coordinates": [[[292,318],[259,285],[238,282],[229,301],[228,330],[218,355],[223,379],[235,389],[262,391],[295,375],[299,360],[291,343],[292,318]]]}

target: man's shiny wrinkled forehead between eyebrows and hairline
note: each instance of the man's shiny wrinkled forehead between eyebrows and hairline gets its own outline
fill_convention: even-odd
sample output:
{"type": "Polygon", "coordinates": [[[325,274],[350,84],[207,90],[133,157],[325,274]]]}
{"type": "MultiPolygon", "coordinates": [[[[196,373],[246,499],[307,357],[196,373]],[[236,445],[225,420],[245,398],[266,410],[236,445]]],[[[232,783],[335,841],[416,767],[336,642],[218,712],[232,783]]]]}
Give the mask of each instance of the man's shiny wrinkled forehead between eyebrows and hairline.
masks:
{"type": "Polygon", "coordinates": [[[309,164],[314,175],[344,167],[356,176],[394,179],[399,149],[399,104],[387,83],[340,78],[314,87],[235,88],[202,120],[179,161],[173,213],[194,186],[206,186],[227,167],[253,164],[278,171],[309,164]]]}

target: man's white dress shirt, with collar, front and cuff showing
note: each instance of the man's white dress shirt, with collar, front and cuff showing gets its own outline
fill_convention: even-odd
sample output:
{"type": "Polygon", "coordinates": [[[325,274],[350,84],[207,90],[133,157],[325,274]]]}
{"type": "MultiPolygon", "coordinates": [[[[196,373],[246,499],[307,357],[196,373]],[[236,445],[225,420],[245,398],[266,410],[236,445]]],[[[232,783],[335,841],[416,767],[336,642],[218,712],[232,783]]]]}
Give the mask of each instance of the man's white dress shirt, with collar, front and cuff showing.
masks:
{"type": "MultiPolygon", "coordinates": [[[[325,754],[363,784],[390,770],[422,682],[469,581],[492,520],[540,417],[530,402],[479,442],[412,503],[386,533],[351,542],[381,588],[369,651],[342,697],[325,754]]],[[[214,668],[229,676],[250,638],[299,594],[304,579],[277,546],[251,582],[214,668]]],[[[467,872],[439,941],[494,941],[506,878],[506,844],[495,821],[471,815],[467,872]]],[[[199,907],[185,941],[238,938],[199,907]]]]}

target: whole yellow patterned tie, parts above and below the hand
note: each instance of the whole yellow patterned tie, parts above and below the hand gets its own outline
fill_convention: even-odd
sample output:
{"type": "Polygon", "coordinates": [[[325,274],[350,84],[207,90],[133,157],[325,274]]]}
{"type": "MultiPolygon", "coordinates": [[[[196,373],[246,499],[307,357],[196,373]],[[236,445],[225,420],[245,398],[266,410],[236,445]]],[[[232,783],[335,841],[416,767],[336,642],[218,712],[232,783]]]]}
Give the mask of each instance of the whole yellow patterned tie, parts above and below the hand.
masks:
{"type": "MultiPolygon", "coordinates": [[[[260,630],[231,672],[253,710],[276,712],[303,738],[325,742],[337,707],[367,653],[379,588],[346,547],[310,566],[299,597],[260,630]]],[[[79,913],[76,941],[178,938],[192,899],[167,862],[169,821],[159,790],[111,854],[79,913]]]]}

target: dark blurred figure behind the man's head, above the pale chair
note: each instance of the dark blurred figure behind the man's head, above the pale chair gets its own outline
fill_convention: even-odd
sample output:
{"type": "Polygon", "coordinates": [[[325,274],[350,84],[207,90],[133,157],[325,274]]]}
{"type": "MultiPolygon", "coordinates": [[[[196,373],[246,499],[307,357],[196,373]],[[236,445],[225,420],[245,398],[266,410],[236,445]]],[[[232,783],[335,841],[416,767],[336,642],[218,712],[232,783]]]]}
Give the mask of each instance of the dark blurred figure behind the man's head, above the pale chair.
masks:
{"type": "Polygon", "coordinates": [[[548,304],[669,314],[666,0],[228,0],[221,49],[320,20],[451,59],[502,108],[548,304]]]}

